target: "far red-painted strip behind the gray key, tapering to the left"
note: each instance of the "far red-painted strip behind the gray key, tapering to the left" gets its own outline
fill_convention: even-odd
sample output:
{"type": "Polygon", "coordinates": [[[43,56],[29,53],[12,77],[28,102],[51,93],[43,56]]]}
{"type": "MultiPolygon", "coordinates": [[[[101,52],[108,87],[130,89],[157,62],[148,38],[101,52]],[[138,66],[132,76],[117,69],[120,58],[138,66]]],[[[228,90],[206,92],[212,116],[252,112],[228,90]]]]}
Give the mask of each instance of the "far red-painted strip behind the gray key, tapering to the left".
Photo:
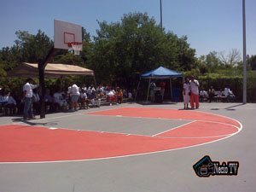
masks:
{"type": "Polygon", "coordinates": [[[94,115],[122,115],[125,117],[161,118],[161,119],[183,119],[183,120],[203,120],[235,125],[240,128],[240,124],[234,119],[212,113],[203,113],[191,110],[177,110],[167,108],[116,108],[107,111],[85,113],[94,115]]]}

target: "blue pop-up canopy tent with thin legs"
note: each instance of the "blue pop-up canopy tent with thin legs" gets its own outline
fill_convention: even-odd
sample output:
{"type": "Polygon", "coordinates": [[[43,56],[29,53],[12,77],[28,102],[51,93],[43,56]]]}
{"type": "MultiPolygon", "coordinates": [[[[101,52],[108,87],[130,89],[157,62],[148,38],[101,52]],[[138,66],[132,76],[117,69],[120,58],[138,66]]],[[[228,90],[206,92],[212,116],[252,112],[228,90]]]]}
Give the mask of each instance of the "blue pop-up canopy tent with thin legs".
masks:
{"type": "MultiPolygon", "coordinates": [[[[171,96],[172,96],[172,80],[171,79],[178,78],[178,77],[183,77],[183,73],[177,73],[165,67],[158,67],[153,71],[150,71],[148,73],[144,73],[141,75],[141,79],[148,79],[148,93],[149,93],[149,86],[150,86],[151,79],[170,79],[171,96]]],[[[137,85],[137,90],[139,89],[141,79],[137,85]]],[[[148,95],[147,95],[147,102],[148,102],[148,95]]]]}

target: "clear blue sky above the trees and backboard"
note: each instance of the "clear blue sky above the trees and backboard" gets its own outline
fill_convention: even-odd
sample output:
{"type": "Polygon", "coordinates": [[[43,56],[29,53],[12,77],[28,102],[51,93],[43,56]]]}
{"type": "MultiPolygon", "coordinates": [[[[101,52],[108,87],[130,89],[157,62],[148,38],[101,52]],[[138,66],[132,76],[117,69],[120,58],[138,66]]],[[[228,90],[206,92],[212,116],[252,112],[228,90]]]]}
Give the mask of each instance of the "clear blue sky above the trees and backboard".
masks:
{"type": "MultiPolygon", "coordinates": [[[[96,20],[119,21],[148,13],[160,23],[160,0],[0,0],[0,49],[11,47],[16,31],[54,36],[54,19],[84,26],[96,36],[96,20]]],[[[163,27],[188,37],[196,56],[238,49],[242,58],[242,0],[162,0],[163,27]]],[[[247,55],[256,55],[256,0],[246,0],[247,55]]]]}

